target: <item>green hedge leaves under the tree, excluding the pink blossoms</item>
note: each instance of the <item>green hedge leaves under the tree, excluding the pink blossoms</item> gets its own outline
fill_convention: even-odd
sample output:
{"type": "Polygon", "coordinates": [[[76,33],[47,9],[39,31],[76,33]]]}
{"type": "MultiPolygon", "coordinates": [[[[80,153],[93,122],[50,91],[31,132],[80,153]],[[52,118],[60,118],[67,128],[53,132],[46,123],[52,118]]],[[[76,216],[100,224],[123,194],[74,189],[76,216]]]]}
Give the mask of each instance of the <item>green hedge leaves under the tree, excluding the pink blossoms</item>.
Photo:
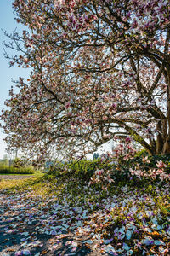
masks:
{"type": "MultiPolygon", "coordinates": [[[[157,161],[162,160],[166,165],[165,172],[170,173],[170,156],[167,155],[148,155],[150,163],[143,162],[143,156],[136,156],[131,160],[123,160],[121,163],[114,163],[114,159],[110,160],[79,160],[67,163],[58,162],[55,166],[51,166],[48,171],[49,174],[65,177],[78,177],[83,181],[90,181],[93,177],[94,172],[99,169],[103,169],[105,172],[111,171],[111,178],[117,182],[132,181],[136,180],[135,176],[132,177],[130,168],[135,169],[137,164],[141,170],[149,171],[150,169],[157,169],[157,161]]],[[[148,180],[148,178],[144,178],[148,180]]]]}

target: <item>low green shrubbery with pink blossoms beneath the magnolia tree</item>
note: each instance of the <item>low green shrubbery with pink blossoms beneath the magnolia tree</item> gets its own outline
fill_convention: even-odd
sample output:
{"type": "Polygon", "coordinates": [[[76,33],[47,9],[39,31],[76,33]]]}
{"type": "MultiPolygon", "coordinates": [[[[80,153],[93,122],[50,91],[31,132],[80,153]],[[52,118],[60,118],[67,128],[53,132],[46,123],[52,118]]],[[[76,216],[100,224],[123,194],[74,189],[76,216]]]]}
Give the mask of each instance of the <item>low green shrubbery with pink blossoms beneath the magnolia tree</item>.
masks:
{"type": "Polygon", "coordinates": [[[116,159],[113,155],[96,160],[58,162],[55,166],[51,166],[48,173],[78,177],[90,184],[100,183],[102,186],[113,182],[165,181],[170,179],[170,157],[164,155],[144,157],[129,154],[127,159],[116,159]]]}

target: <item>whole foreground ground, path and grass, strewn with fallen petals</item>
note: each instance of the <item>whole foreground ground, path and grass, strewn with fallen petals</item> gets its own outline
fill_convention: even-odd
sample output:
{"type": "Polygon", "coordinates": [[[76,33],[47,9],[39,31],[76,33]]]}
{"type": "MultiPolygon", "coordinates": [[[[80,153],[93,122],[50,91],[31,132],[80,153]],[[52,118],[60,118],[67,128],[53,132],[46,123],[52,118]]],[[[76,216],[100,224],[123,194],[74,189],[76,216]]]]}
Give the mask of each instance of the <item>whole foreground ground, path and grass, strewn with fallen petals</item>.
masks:
{"type": "Polygon", "coordinates": [[[41,189],[1,190],[1,256],[170,255],[169,183],[102,191],[53,177],[41,189]]]}

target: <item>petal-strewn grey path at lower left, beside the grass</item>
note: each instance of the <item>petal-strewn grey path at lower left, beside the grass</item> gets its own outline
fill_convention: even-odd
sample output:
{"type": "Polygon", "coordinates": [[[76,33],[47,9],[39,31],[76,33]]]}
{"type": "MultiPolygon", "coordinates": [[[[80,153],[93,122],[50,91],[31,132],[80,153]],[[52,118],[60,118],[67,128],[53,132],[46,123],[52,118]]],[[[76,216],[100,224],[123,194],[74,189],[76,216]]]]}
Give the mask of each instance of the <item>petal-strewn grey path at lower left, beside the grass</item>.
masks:
{"type": "Polygon", "coordinates": [[[24,194],[0,195],[0,201],[0,255],[88,253],[83,238],[74,234],[76,225],[71,225],[68,215],[62,218],[65,205],[55,202],[48,207],[48,201],[24,194]]]}

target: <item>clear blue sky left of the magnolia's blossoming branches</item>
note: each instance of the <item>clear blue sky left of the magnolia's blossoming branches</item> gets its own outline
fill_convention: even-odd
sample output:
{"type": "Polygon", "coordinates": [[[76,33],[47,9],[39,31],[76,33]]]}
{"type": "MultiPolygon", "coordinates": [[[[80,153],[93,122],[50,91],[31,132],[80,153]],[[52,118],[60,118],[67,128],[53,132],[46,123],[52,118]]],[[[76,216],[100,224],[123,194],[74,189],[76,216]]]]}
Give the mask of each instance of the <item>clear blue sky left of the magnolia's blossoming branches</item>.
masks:
{"type": "MultiPolygon", "coordinates": [[[[11,79],[17,80],[19,77],[26,77],[28,74],[27,70],[19,67],[8,68],[8,60],[3,56],[3,42],[8,42],[8,38],[4,36],[2,29],[8,33],[13,32],[15,28],[17,28],[19,32],[22,30],[22,27],[14,20],[12,3],[13,1],[11,0],[0,0],[0,110],[2,110],[4,106],[4,101],[8,98],[8,90],[14,85],[11,79]]],[[[0,159],[6,154],[3,137],[3,131],[0,130],[0,159]]]]}

